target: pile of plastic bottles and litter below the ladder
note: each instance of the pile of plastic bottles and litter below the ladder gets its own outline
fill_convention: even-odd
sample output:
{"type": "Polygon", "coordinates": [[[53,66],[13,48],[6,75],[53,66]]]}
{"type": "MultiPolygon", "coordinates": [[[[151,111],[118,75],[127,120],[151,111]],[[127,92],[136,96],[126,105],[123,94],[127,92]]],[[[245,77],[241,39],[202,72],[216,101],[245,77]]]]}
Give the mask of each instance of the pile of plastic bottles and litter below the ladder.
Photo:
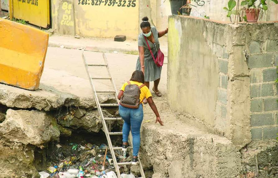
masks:
{"type": "MultiPolygon", "coordinates": [[[[52,162],[52,166],[47,170],[39,172],[40,178],[117,178],[113,172],[114,164],[109,148],[106,144],[93,145],[90,143],[83,145],[70,143],[66,148],[71,148],[68,152],[76,153],[68,157],[63,157],[63,146],[56,144],[56,156],[59,160],[52,162]],[[108,150],[108,151],[107,151],[108,150]]],[[[121,150],[115,150],[117,162],[130,162],[132,157],[124,157],[121,150]]],[[[121,172],[128,172],[126,166],[120,167],[121,172]]],[[[135,178],[134,175],[122,174],[123,178],[135,178]]]]}

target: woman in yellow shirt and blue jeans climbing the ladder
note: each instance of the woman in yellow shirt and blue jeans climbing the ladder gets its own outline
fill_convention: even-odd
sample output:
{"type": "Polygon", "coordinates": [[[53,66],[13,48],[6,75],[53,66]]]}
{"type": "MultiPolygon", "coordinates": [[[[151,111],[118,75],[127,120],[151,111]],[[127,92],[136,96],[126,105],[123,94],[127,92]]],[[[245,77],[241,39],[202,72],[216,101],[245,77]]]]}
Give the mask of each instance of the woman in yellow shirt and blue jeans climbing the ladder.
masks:
{"type": "MultiPolygon", "coordinates": [[[[136,84],[138,86],[141,86],[144,84],[144,74],[142,71],[134,71],[132,73],[132,76],[130,78],[130,84],[136,84]]],[[[121,87],[121,90],[118,94],[118,99],[120,100],[122,95],[124,94],[125,87],[128,85],[127,82],[123,84],[121,87]]],[[[147,86],[143,86],[140,88],[140,102],[142,103],[144,98],[147,99],[149,106],[152,108],[154,114],[156,115],[156,121],[155,123],[159,122],[160,125],[163,126],[163,122],[160,119],[159,113],[157,111],[157,107],[155,103],[153,102],[153,97],[148,89],[147,86]]],[[[139,147],[140,147],[140,128],[141,128],[141,123],[143,121],[143,105],[140,104],[138,109],[132,109],[128,107],[124,107],[119,105],[119,113],[120,116],[124,120],[124,125],[123,125],[123,146],[122,150],[126,151],[128,145],[128,135],[130,132],[130,127],[131,127],[131,134],[133,138],[133,158],[132,158],[132,164],[137,165],[138,163],[138,152],[139,152],[139,147]]]]}

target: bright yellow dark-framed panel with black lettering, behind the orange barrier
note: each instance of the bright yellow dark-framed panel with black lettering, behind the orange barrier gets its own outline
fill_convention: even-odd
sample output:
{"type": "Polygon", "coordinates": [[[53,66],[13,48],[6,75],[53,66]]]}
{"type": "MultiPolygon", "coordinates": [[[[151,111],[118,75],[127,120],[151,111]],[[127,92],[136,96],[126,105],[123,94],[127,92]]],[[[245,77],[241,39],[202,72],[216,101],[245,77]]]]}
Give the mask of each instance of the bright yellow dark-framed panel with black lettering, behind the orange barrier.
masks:
{"type": "Polygon", "coordinates": [[[13,17],[41,27],[50,24],[48,0],[13,0],[13,17]]]}

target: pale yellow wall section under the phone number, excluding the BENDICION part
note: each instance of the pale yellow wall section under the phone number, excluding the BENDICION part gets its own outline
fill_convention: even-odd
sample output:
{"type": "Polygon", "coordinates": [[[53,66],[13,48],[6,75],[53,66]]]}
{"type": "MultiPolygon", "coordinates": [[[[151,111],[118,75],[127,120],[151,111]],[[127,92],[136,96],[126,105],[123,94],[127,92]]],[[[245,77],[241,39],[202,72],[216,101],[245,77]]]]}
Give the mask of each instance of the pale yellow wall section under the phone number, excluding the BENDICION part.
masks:
{"type": "Polygon", "coordinates": [[[100,4],[99,0],[75,1],[75,33],[98,38],[126,35],[137,39],[139,0],[114,2],[113,6],[112,0],[102,0],[100,4]]]}

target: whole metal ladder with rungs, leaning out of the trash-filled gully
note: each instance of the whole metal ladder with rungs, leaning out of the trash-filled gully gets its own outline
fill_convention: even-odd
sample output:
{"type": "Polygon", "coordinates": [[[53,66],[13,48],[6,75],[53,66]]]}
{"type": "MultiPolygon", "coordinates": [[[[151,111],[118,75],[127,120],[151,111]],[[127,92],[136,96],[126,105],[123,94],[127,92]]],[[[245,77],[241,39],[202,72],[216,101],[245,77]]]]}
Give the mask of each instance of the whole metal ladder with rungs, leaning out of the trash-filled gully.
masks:
{"type": "MultiPolygon", "coordinates": [[[[101,65],[101,66],[106,66],[106,69],[107,69],[107,72],[108,72],[108,75],[109,75],[109,79],[110,79],[110,81],[111,81],[111,83],[112,83],[112,85],[113,85],[113,87],[114,87],[114,90],[115,90],[114,94],[115,94],[116,101],[117,101],[117,103],[119,104],[117,88],[116,88],[115,82],[114,82],[113,77],[112,77],[112,75],[111,75],[111,73],[110,73],[110,70],[109,70],[107,57],[106,57],[106,55],[105,55],[104,52],[102,52],[102,55],[103,55],[103,60],[104,60],[104,63],[105,63],[105,64],[104,64],[104,65],[101,65]]],[[[88,65],[87,62],[86,62],[85,56],[84,56],[84,50],[82,51],[82,59],[83,59],[84,66],[85,66],[85,69],[86,69],[86,72],[87,72],[87,75],[88,75],[88,78],[89,78],[89,81],[90,81],[91,88],[93,89],[93,94],[94,94],[94,98],[95,98],[95,100],[96,100],[95,102],[96,102],[96,104],[97,104],[98,112],[99,112],[99,114],[100,114],[100,116],[101,116],[101,122],[102,122],[102,124],[103,124],[104,133],[105,133],[105,135],[106,135],[107,142],[108,142],[108,146],[109,146],[109,149],[110,149],[110,152],[111,152],[111,155],[112,155],[113,164],[114,164],[114,167],[115,167],[115,169],[116,169],[116,173],[117,173],[118,178],[121,178],[121,173],[120,173],[119,166],[121,166],[121,165],[126,165],[126,164],[128,164],[128,163],[118,163],[117,160],[116,160],[116,155],[115,155],[114,150],[120,149],[121,147],[113,147],[112,142],[111,142],[111,138],[110,138],[111,132],[108,131],[108,128],[107,128],[107,125],[106,125],[106,120],[109,121],[109,119],[108,119],[108,118],[105,118],[105,117],[103,116],[103,112],[102,112],[102,108],[101,108],[101,106],[106,106],[106,105],[108,106],[108,105],[113,105],[113,104],[106,104],[106,105],[105,105],[105,104],[100,104],[100,103],[99,103],[98,95],[97,95],[97,93],[98,93],[99,91],[96,91],[96,89],[95,89],[95,86],[94,86],[94,84],[93,84],[93,78],[91,77],[91,75],[90,75],[90,73],[89,73],[88,66],[100,66],[100,65],[91,65],[91,64],[88,65]]],[[[110,93],[110,92],[109,92],[109,93],[110,93]]],[[[117,119],[117,120],[118,120],[118,119],[117,119]]],[[[112,135],[116,135],[116,133],[119,134],[119,133],[121,133],[121,132],[113,132],[112,135]]],[[[131,135],[131,132],[130,132],[130,134],[129,134],[129,140],[130,140],[130,146],[133,147],[133,145],[132,145],[132,135],[131,135]]],[[[138,162],[139,162],[139,170],[140,170],[140,173],[141,173],[141,176],[142,176],[141,178],[146,178],[139,157],[138,157],[138,162]]]]}

